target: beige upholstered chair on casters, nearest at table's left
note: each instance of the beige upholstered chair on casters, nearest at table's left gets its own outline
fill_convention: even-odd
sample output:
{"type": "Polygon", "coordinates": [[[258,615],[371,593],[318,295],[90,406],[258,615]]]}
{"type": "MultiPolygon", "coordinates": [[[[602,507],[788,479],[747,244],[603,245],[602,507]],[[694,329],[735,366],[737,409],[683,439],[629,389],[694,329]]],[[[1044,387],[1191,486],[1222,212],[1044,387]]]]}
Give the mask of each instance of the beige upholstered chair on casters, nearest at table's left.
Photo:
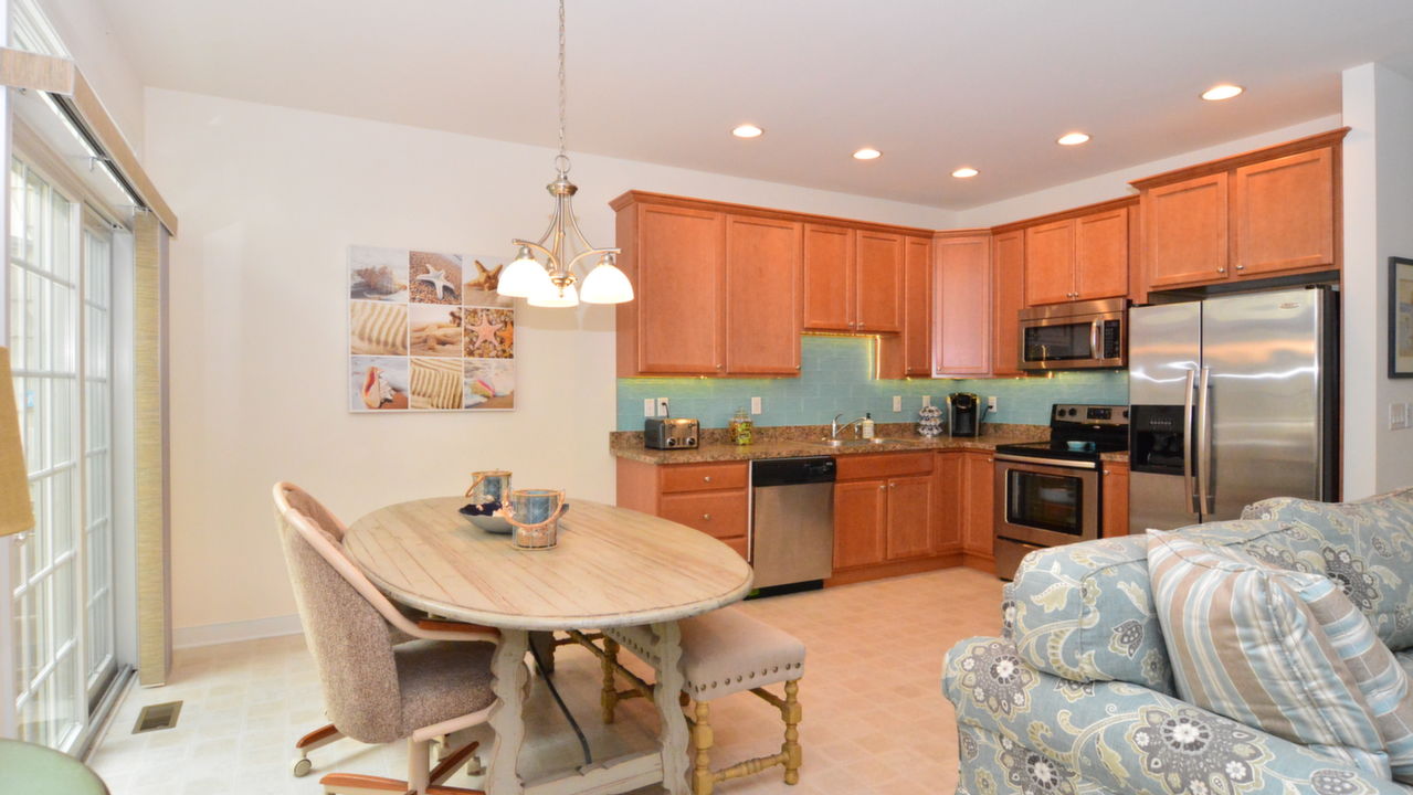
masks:
{"type": "Polygon", "coordinates": [[[439,785],[468,761],[476,744],[452,750],[435,770],[430,746],[489,717],[496,700],[490,659],[499,633],[451,621],[414,623],[343,554],[342,525],[317,500],[297,486],[277,483],[274,503],[300,620],[332,722],[321,730],[324,737],[301,750],[339,736],[363,743],[408,741],[407,781],[335,772],[321,778],[324,791],[476,792],[439,785]],[[338,527],[338,535],[325,525],[338,527]]]}

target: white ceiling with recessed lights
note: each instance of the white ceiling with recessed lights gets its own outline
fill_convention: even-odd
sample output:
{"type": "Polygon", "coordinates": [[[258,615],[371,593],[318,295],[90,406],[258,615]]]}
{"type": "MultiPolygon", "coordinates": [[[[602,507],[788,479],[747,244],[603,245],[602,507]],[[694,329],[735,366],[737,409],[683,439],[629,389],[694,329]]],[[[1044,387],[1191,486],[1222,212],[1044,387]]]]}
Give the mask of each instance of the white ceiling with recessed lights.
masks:
{"type": "MultiPolygon", "coordinates": [[[[552,0],[105,4],[151,86],[555,141],[552,0]]],[[[947,209],[1338,113],[1341,69],[1413,64],[1409,0],[569,0],[568,27],[571,151],[947,209]],[[1248,92],[1197,99],[1224,80],[1248,92]]]]}

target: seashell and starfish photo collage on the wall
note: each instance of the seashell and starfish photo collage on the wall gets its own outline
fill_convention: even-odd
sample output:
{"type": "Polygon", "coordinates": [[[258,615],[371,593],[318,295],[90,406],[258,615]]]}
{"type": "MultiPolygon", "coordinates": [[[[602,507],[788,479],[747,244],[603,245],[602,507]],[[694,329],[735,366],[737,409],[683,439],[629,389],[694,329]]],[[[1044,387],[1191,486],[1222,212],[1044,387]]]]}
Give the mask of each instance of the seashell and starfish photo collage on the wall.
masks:
{"type": "Polygon", "coordinates": [[[516,407],[503,257],[350,246],[349,411],[516,407]]]}

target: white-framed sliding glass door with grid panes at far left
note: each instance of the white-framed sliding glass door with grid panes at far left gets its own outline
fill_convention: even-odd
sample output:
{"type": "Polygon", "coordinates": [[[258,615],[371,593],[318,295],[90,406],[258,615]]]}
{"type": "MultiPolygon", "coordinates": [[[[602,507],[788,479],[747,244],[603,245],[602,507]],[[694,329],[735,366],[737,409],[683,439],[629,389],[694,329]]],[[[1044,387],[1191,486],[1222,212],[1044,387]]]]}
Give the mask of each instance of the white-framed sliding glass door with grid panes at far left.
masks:
{"type": "Polygon", "coordinates": [[[114,672],[112,232],[16,158],[8,340],[35,527],[10,555],[17,733],[89,734],[114,672]]]}

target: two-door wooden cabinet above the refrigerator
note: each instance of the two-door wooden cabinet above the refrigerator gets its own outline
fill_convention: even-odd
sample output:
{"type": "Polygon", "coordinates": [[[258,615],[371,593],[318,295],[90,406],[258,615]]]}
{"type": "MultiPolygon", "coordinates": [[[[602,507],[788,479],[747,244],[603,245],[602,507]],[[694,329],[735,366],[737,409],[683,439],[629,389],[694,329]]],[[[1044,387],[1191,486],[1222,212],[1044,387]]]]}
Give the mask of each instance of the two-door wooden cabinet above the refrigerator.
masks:
{"type": "Polygon", "coordinates": [[[1139,292],[1340,267],[1348,127],[1132,182],[1143,213],[1139,292]]]}

